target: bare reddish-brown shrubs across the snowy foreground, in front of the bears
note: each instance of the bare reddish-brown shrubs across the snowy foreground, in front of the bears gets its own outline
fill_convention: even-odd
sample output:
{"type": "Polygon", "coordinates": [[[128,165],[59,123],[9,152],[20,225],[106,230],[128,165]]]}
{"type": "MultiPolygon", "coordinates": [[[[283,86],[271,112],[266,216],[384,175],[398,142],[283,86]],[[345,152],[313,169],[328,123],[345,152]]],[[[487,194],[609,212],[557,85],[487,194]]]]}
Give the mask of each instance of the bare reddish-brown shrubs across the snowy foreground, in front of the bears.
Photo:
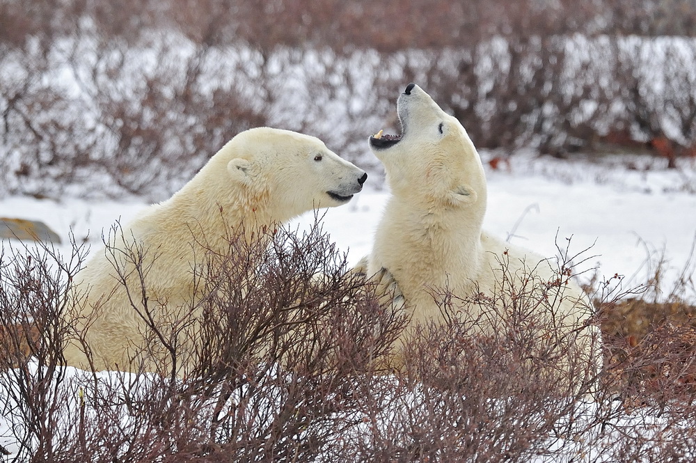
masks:
{"type": "MultiPolygon", "coordinates": [[[[316,226],[269,240],[232,240],[228,253],[209,256],[196,332],[166,317],[150,325],[142,355],[164,347],[173,359],[157,373],[63,367],[79,304],[68,289],[84,249],[67,260],[50,249],[6,251],[6,460],[668,462],[696,450],[693,304],[605,300],[597,372],[571,352],[541,354],[557,352],[553,336],[537,336],[552,327],[530,315],[532,292],[515,293],[506,297],[514,316],[498,329],[483,335],[461,314],[422,326],[404,366],[385,370],[404,314],[348,272],[316,226]],[[191,351],[166,343],[187,337],[197,360],[182,378],[173,365],[191,351]]],[[[443,308],[452,313],[467,303],[500,310],[491,298],[451,296],[443,308]]]]}

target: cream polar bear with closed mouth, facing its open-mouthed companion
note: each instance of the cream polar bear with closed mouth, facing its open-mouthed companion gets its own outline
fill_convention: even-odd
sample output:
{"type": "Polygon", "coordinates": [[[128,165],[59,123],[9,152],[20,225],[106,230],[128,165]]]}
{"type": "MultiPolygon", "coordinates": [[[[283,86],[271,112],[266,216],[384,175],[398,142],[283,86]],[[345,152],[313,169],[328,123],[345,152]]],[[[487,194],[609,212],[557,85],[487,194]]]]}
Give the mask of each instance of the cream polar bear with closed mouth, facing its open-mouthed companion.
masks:
{"type": "Polygon", "coordinates": [[[313,136],[268,127],[237,134],[170,199],[112,233],[107,249],[79,272],[76,288],[88,291],[88,299],[76,338],[86,342],[68,345],[68,365],[88,366],[86,344],[97,370],[136,370],[132,361],[148,332],[145,301],[154,319],[164,310],[188,310],[196,295],[194,269],[200,271],[206,253],[228,252],[230,236],[251,242],[303,212],[343,205],[366,178],[313,136]],[[139,250],[144,285],[133,272],[139,250]],[[117,281],[114,263],[128,275],[126,285],[117,281]]]}

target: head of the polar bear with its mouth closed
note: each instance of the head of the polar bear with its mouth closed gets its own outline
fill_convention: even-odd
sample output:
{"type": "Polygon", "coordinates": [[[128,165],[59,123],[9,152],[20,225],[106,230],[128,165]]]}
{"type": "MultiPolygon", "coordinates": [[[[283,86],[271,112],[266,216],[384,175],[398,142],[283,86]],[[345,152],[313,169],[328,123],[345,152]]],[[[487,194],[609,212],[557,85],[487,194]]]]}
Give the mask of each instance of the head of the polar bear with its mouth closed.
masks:
{"type": "Polygon", "coordinates": [[[367,179],[314,136],[269,127],[237,134],[211,162],[244,202],[271,207],[274,221],[345,204],[367,179]]]}

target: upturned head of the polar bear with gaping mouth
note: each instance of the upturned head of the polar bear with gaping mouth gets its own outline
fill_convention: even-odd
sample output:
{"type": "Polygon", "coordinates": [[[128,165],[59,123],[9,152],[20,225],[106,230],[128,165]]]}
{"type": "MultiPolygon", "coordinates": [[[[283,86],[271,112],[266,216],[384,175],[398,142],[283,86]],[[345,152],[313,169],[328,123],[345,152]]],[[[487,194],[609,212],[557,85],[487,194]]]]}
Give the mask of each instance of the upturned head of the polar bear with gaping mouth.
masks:
{"type": "Polygon", "coordinates": [[[477,205],[485,210],[483,166],[459,120],[416,84],[400,95],[397,111],[402,134],[380,131],[369,140],[394,196],[428,208],[477,205]]]}

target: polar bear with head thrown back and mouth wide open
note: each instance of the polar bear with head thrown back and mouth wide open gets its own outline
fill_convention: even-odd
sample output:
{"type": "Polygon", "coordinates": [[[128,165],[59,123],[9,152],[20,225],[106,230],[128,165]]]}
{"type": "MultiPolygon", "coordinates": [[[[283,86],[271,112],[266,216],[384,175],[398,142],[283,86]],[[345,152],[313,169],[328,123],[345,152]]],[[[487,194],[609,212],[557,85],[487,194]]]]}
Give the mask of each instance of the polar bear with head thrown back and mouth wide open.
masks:
{"type": "Polygon", "coordinates": [[[392,196],[372,253],[358,265],[358,272],[391,274],[411,325],[444,321],[438,292],[445,289],[468,298],[470,303],[461,307],[466,320],[476,320],[485,331],[500,327],[496,322],[514,306],[511,292],[548,288],[537,299],[531,297],[533,315],[560,327],[560,338],[570,352],[583,359],[595,356],[592,345],[598,330],[585,324],[594,311],[579,286],[567,275],[556,274],[540,256],[482,231],[486,178],[464,127],[416,84],[400,95],[397,111],[402,134],[379,131],[369,139],[384,165],[392,196]],[[475,303],[475,298],[498,301],[493,319],[490,311],[482,311],[486,304],[475,303]]]}

